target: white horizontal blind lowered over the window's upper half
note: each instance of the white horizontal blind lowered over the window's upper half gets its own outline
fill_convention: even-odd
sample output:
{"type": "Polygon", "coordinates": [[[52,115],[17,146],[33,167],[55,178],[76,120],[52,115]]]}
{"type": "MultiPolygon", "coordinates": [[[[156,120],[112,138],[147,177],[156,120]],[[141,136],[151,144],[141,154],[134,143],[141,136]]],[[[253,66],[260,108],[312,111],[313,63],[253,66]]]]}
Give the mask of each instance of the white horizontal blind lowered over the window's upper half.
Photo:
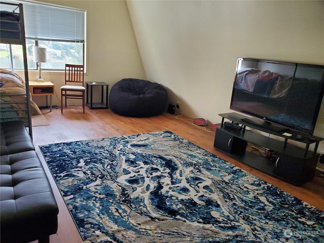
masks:
{"type": "Polygon", "coordinates": [[[22,3],[26,38],[85,42],[86,10],[31,1],[22,3]]]}

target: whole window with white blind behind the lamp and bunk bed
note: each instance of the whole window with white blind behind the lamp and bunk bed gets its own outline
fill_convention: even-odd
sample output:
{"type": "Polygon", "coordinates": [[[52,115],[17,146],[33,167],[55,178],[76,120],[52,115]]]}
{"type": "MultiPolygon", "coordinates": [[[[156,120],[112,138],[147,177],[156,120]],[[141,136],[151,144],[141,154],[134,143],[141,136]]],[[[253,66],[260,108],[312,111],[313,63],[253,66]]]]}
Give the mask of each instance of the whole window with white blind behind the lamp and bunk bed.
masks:
{"type": "MultiPolygon", "coordinates": [[[[33,1],[22,3],[24,9],[28,69],[36,69],[32,47],[47,48],[43,70],[63,70],[65,63],[84,64],[86,42],[86,11],[33,1]]],[[[1,67],[23,69],[22,47],[0,45],[1,67]]]]}

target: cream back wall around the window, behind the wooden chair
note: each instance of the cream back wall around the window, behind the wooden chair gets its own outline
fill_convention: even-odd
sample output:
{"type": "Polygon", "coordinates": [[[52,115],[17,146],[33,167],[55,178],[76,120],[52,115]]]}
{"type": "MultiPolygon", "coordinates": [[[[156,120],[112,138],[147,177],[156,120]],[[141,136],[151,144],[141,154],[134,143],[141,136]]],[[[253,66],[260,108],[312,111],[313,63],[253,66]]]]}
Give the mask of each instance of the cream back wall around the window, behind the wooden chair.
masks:
{"type": "MultiPolygon", "coordinates": [[[[145,78],[133,27],[125,1],[39,1],[87,10],[87,73],[85,82],[105,82],[111,86],[121,78],[145,78]]],[[[43,64],[43,66],[45,66],[43,64]]],[[[35,80],[37,71],[29,72],[35,80]]],[[[44,79],[55,85],[53,104],[60,105],[60,87],[64,85],[64,72],[42,71],[44,79]]],[[[100,88],[96,87],[97,94],[100,88]]],[[[96,91],[94,92],[96,96],[96,91]]],[[[100,97],[97,95],[96,97],[100,97]]],[[[99,99],[99,98],[98,98],[99,99]]],[[[40,106],[44,97],[33,97],[40,106]]],[[[96,101],[96,100],[94,100],[96,101]]],[[[69,100],[68,104],[81,104],[69,100]]]]}

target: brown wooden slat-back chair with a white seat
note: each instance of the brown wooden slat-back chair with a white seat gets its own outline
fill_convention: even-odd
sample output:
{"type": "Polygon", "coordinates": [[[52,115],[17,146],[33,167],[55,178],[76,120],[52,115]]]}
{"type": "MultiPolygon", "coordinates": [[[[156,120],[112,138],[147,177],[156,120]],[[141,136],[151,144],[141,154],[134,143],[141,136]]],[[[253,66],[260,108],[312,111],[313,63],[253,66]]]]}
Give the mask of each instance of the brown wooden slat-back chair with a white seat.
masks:
{"type": "Polygon", "coordinates": [[[83,113],[85,113],[84,66],[65,64],[65,85],[61,87],[61,113],[63,113],[63,97],[66,99],[82,99],[83,113]],[[74,85],[67,85],[72,83],[74,85]],[[77,84],[77,85],[75,85],[77,84]]]}

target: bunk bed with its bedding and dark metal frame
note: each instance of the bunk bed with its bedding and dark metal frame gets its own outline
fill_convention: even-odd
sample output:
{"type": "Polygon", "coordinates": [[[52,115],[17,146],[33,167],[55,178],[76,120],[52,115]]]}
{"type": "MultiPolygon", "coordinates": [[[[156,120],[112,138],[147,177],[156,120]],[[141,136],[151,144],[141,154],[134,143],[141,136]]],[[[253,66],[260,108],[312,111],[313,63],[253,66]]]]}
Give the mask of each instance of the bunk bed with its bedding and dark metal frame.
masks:
{"type": "Polygon", "coordinates": [[[24,81],[7,70],[1,70],[1,122],[22,120],[32,137],[31,115],[40,113],[31,101],[27,67],[26,37],[23,5],[1,2],[1,44],[21,45],[24,62],[24,81]]]}

